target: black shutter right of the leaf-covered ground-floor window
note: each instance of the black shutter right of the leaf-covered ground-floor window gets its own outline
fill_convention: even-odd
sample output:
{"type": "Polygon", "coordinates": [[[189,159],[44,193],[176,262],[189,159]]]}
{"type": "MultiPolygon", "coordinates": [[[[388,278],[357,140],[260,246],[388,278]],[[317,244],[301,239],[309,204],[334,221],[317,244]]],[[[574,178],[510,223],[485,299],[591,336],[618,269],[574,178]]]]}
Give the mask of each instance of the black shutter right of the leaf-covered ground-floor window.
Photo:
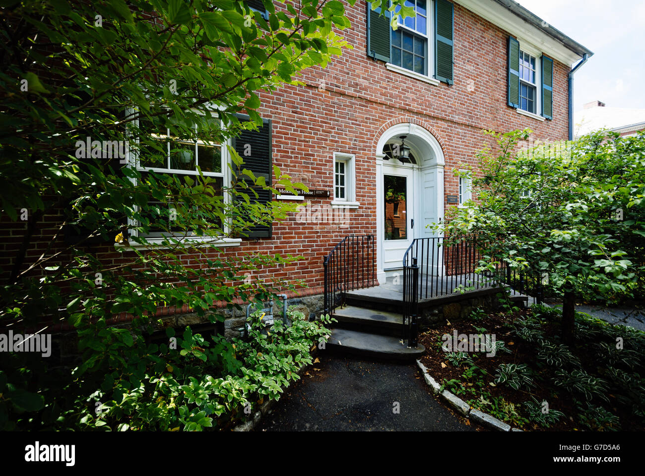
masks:
{"type": "MultiPolygon", "coordinates": [[[[240,115],[241,121],[248,121],[248,116],[240,115]]],[[[237,137],[233,137],[233,148],[235,152],[242,158],[244,163],[241,169],[248,169],[253,172],[255,177],[264,177],[267,185],[272,184],[273,165],[272,165],[272,136],[271,136],[271,121],[264,119],[263,126],[258,130],[243,130],[237,137]],[[250,155],[245,156],[244,151],[248,150],[246,144],[250,144],[250,155]]],[[[233,170],[237,175],[238,168],[233,166],[233,170]]],[[[244,180],[245,175],[238,175],[237,180],[244,180]]],[[[246,177],[248,179],[248,177],[246,177]]],[[[253,203],[269,203],[272,201],[272,193],[270,190],[257,190],[255,192],[259,195],[257,198],[255,194],[248,189],[240,187],[240,192],[249,195],[250,201],[253,203]]],[[[245,203],[244,199],[239,197],[236,199],[240,203],[238,208],[242,211],[245,203]]],[[[251,238],[270,238],[272,236],[271,225],[255,225],[244,231],[244,235],[251,238]]]]}

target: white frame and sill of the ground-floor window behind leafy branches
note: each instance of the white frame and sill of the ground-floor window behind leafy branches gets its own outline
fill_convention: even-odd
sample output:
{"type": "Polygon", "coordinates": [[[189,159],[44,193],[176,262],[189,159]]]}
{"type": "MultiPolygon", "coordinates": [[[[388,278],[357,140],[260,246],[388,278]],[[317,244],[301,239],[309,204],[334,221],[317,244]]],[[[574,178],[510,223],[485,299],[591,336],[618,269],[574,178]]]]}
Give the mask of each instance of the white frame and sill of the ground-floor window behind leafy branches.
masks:
{"type": "MultiPolygon", "coordinates": [[[[169,112],[172,114],[172,111],[169,110],[169,112]]],[[[196,114],[204,115],[203,112],[201,111],[194,111],[196,114]]],[[[128,109],[126,110],[126,117],[130,117],[130,115],[137,114],[136,110],[133,109],[128,109]]],[[[139,119],[136,119],[133,121],[133,123],[137,126],[139,126],[139,119]]],[[[223,124],[222,124],[223,126],[223,124]]],[[[146,172],[146,171],[153,171],[157,172],[158,174],[179,174],[179,175],[199,175],[199,172],[196,170],[179,170],[179,169],[171,169],[170,168],[170,159],[168,159],[168,168],[157,168],[157,167],[142,167],[140,163],[140,158],[139,158],[139,137],[135,137],[134,133],[132,130],[128,130],[127,132],[127,137],[130,137],[130,141],[134,142],[137,144],[137,148],[135,150],[132,150],[131,148],[128,148],[126,152],[126,163],[128,167],[131,168],[136,168],[137,170],[141,172],[146,172]]],[[[155,135],[155,134],[151,134],[155,135]]],[[[160,137],[161,139],[161,137],[160,137]]],[[[192,141],[191,141],[192,142],[192,141]]],[[[205,143],[204,141],[197,140],[195,141],[195,152],[197,151],[197,146],[199,145],[210,145],[208,143],[205,143]]],[[[231,177],[230,177],[230,168],[228,167],[228,164],[230,164],[230,154],[228,152],[228,147],[227,145],[231,145],[232,141],[231,139],[228,139],[226,143],[219,144],[220,150],[221,150],[221,170],[222,172],[204,172],[202,171],[202,174],[204,177],[220,177],[222,179],[222,185],[223,187],[226,187],[227,184],[230,183],[231,177]]],[[[168,156],[170,155],[170,144],[168,144],[168,156]]],[[[199,163],[199,159],[197,159],[199,163]]],[[[136,179],[131,178],[130,181],[133,184],[136,184],[136,179]]],[[[224,203],[229,204],[231,200],[231,197],[228,195],[228,193],[224,193],[224,203]]],[[[135,210],[139,210],[139,207],[137,205],[134,206],[135,210]]],[[[135,230],[134,227],[138,226],[139,224],[133,220],[128,218],[128,235],[132,237],[138,237],[139,236],[139,231],[135,230]]],[[[177,240],[183,244],[192,244],[194,246],[208,246],[210,244],[217,244],[217,246],[239,246],[241,244],[242,240],[239,238],[229,238],[226,235],[230,233],[230,224],[229,223],[224,223],[223,224],[224,228],[224,235],[221,237],[197,237],[197,236],[150,236],[150,237],[145,237],[146,241],[152,246],[155,246],[155,248],[172,248],[173,246],[173,241],[177,240]],[[164,244],[166,242],[170,241],[170,245],[164,244]],[[164,245],[164,246],[161,246],[164,245]]],[[[148,245],[143,244],[143,243],[115,243],[115,248],[121,248],[121,247],[130,247],[130,248],[148,248],[148,245]]]]}

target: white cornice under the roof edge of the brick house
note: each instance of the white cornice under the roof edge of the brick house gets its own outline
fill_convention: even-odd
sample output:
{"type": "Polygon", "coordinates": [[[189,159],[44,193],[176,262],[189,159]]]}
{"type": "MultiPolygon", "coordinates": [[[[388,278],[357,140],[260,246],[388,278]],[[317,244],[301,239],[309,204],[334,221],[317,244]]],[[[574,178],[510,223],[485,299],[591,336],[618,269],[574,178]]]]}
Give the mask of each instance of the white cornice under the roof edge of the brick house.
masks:
{"type": "Polygon", "coordinates": [[[521,19],[497,2],[492,0],[453,1],[517,37],[520,43],[528,43],[547,56],[566,64],[566,66],[571,66],[571,64],[581,59],[580,55],[572,52],[562,43],[542,32],[539,28],[535,28],[528,21],[521,19]]]}

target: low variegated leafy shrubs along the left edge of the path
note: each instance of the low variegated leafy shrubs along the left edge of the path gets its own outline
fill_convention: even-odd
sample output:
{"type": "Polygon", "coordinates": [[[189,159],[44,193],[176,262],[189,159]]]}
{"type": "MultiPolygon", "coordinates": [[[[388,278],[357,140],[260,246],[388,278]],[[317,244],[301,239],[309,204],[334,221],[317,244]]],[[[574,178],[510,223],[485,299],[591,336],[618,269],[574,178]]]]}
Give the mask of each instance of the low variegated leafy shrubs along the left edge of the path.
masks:
{"type": "MultiPolygon", "coordinates": [[[[248,341],[218,335],[209,342],[190,327],[176,338],[177,348],[135,339],[118,354],[99,355],[106,359],[99,381],[87,363],[95,342],[84,341],[93,352],[63,389],[66,401],[47,400],[42,412],[11,412],[8,428],[43,428],[46,421],[48,428],[72,430],[228,428],[255,413],[264,399],[279,399],[328,338],[329,316],[310,322],[302,313],[288,315],[291,326],[276,320],[266,334],[263,322],[253,319],[248,341]]],[[[166,335],[175,338],[172,328],[166,335]]]]}

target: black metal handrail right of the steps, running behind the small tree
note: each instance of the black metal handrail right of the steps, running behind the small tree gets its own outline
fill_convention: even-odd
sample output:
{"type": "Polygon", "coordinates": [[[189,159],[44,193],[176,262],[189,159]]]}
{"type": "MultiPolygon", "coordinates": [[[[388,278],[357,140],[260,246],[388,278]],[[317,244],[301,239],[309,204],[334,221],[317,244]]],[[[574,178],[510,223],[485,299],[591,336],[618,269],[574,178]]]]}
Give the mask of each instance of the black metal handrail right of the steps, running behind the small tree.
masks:
{"type": "Polygon", "coordinates": [[[477,236],[428,237],[412,241],[403,256],[402,342],[417,346],[419,301],[462,290],[509,286],[511,295],[524,293],[544,299],[541,272],[537,268],[513,270],[507,263],[495,272],[477,273],[481,246],[477,236]]]}

